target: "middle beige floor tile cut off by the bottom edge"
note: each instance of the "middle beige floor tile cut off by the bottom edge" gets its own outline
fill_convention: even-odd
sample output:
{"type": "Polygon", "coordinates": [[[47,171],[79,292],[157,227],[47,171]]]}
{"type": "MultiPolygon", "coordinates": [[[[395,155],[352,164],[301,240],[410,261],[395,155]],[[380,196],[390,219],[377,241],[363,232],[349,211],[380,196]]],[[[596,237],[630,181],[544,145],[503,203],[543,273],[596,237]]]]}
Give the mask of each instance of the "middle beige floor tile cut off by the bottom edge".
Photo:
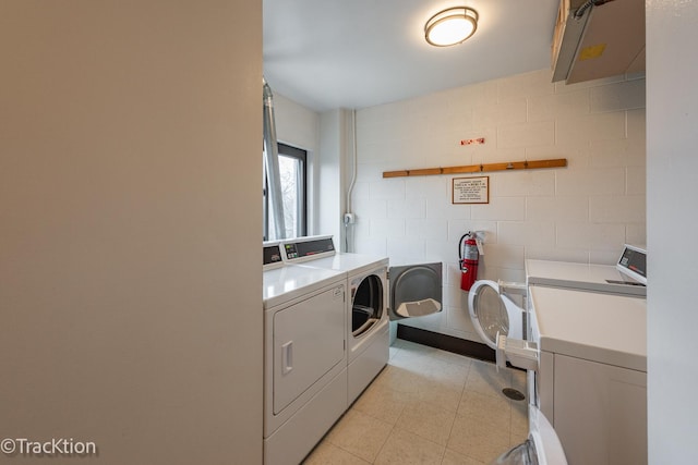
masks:
{"type": "Polygon", "coordinates": [[[375,460],[376,465],[440,465],[444,445],[394,429],[375,460]]]}

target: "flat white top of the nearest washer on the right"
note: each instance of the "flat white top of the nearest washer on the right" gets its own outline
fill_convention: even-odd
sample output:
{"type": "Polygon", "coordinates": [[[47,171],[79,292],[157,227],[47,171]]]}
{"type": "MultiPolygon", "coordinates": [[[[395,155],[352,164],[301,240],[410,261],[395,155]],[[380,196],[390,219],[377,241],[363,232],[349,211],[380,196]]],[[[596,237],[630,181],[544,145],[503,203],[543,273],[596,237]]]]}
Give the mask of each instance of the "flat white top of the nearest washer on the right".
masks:
{"type": "Polygon", "coordinates": [[[647,371],[647,301],[622,295],[530,286],[539,348],[647,371]]]}

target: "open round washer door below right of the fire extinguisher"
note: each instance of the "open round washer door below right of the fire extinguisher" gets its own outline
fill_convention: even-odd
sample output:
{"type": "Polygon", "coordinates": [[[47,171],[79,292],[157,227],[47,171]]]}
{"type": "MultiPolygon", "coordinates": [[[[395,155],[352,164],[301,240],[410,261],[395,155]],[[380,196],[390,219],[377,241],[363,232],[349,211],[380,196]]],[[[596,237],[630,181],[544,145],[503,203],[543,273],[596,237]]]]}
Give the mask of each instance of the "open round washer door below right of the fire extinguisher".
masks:
{"type": "Polygon", "coordinates": [[[509,333],[509,315],[494,281],[476,281],[468,295],[470,319],[482,340],[496,347],[497,332],[509,333]]]}

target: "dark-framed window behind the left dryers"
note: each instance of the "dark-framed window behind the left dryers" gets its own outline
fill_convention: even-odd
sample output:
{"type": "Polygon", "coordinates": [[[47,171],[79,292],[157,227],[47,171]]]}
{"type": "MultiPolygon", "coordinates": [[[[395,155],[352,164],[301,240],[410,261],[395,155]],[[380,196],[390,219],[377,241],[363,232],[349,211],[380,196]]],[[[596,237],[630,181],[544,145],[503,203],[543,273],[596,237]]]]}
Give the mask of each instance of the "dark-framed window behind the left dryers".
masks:
{"type": "MultiPolygon", "coordinates": [[[[306,164],[308,152],[286,144],[278,144],[279,174],[281,181],[281,198],[284,203],[284,222],[286,237],[298,237],[306,234],[306,164]]],[[[267,175],[264,170],[264,240],[275,238],[274,216],[267,197],[267,175]]]]}

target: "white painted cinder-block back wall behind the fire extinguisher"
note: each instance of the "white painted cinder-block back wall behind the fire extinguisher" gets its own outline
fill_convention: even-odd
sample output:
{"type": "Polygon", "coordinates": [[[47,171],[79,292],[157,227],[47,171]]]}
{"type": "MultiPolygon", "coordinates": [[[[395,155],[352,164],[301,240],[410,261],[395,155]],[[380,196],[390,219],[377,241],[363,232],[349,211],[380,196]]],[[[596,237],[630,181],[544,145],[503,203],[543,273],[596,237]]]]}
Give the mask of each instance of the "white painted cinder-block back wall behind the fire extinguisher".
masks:
{"type": "Polygon", "coordinates": [[[446,266],[445,311],[405,323],[479,341],[459,289],[468,230],[486,232],[479,277],[506,281],[525,279],[525,258],[612,264],[625,242],[646,242],[643,76],[550,78],[542,70],[358,111],[357,252],[446,266]],[[485,144],[459,144],[477,137],[485,144]],[[382,178],[547,158],[568,167],[489,173],[489,205],[452,205],[454,175],[382,178]]]}

